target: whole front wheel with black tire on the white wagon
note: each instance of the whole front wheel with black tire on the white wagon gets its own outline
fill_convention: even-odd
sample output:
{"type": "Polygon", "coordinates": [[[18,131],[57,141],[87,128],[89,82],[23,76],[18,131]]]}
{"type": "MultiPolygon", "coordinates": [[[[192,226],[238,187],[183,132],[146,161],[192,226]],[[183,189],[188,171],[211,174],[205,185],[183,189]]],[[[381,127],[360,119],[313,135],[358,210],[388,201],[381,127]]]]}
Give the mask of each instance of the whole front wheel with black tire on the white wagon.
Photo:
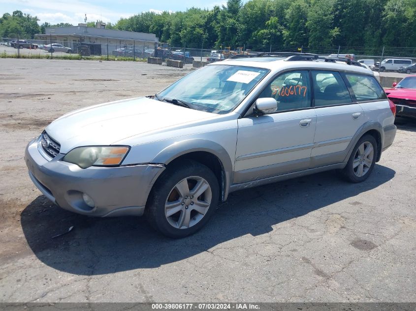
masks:
{"type": "Polygon", "coordinates": [[[215,212],[220,197],[212,170],[192,161],[169,166],[156,181],[146,206],[149,223],[171,238],[202,228],[215,212]]]}

